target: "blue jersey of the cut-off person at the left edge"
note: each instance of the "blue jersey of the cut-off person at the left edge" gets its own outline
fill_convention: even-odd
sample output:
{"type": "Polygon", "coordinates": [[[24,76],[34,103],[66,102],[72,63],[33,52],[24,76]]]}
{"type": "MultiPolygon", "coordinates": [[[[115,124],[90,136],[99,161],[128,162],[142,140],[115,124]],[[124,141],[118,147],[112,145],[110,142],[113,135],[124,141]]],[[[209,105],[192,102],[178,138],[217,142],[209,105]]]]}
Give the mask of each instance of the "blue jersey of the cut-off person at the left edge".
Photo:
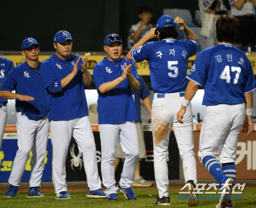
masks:
{"type": "MultiPolygon", "coordinates": [[[[0,56],[0,83],[4,82],[5,77],[14,68],[12,60],[0,56]]],[[[0,103],[7,103],[8,100],[0,98],[0,103]]]]}

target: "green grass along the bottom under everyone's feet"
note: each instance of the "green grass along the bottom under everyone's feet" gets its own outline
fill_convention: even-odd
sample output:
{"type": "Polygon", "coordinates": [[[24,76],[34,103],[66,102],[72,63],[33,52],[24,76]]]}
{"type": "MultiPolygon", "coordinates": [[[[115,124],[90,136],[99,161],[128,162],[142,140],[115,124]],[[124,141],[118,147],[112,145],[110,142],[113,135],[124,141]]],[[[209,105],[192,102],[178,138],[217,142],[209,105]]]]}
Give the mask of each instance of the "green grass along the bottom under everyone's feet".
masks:
{"type": "MultiPolygon", "coordinates": [[[[178,189],[170,189],[170,207],[188,207],[186,200],[178,200],[178,189]]],[[[124,194],[118,192],[118,201],[108,201],[107,199],[87,198],[86,191],[69,191],[72,196],[70,200],[56,200],[54,192],[43,192],[44,198],[27,198],[27,192],[19,193],[14,198],[4,198],[4,193],[0,193],[0,208],[14,208],[14,207],[155,207],[152,203],[155,201],[154,197],[158,196],[156,189],[136,189],[135,194],[137,200],[127,200],[124,194]]],[[[241,200],[233,200],[234,208],[255,208],[256,207],[256,189],[248,188],[243,191],[241,200]]],[[[200,200],[199,206],[202,208],[215,208],[218,200],[200,200]]]]}

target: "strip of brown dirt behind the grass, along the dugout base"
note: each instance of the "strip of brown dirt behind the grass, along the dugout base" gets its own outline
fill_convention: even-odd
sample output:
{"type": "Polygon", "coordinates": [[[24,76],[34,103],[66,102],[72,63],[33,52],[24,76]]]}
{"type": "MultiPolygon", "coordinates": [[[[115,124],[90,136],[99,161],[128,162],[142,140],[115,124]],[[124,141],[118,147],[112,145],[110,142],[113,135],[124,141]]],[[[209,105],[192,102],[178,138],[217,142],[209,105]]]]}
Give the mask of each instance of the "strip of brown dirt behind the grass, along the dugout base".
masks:
{"type": "MultiPolygon", "coordinates": [[[[169,185],[169,189],[181,189],[184,185],[169,185]]],[[[83,185],[76,185],[76,186],[68,186],[68,191],[87,191],[88,186],[83,185]]],[[[248,184],[245,188],[255,188],[256,185],[248,184]]],[[[8,187],[0,187],[0,193],[5,193],[8,187]]],[[[102,186],[103,190],[106,190],[104,186],[102,186]]],[[[132,187],[132,189],[157,189],[157,186],[150,186],[150,187],[132,187]]],[[[19,187],[19,192],[28,192],[29,188],[21,186],[19,187]]],[[[43,186],[39,188],[41,192],[54,192],[53,186],[43,186]]]]}

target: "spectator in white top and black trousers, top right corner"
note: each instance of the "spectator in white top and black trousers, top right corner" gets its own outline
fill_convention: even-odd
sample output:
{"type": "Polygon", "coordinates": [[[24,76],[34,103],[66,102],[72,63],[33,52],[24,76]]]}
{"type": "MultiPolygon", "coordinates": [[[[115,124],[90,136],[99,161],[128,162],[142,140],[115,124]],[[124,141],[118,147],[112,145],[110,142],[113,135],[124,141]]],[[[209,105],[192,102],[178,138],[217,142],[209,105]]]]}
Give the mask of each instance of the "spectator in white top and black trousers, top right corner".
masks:
{"type": "Polygon", "coordinates": [[[256,44],[256,0],[229,0],[231,15],[239,20],[239,27],[234,46],[251,46],[256,44]]]}

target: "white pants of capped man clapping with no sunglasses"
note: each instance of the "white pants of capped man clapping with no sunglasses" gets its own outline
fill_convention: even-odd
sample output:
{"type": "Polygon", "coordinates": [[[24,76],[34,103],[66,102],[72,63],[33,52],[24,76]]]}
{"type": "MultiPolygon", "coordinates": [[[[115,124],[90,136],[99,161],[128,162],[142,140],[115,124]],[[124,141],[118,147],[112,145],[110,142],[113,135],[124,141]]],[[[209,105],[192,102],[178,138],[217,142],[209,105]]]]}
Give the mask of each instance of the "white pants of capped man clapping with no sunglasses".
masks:
{"type": "Polygon", "coordinates": [[[65,121],[50,121],[50,129],[53,145],[52,178],[55,193],[67,191],[66,159],[71,136],[74,137],[79,152],[83,155],[88,187],[90,190],[101,189],[95,141],[88,116],[65,121]]]}

